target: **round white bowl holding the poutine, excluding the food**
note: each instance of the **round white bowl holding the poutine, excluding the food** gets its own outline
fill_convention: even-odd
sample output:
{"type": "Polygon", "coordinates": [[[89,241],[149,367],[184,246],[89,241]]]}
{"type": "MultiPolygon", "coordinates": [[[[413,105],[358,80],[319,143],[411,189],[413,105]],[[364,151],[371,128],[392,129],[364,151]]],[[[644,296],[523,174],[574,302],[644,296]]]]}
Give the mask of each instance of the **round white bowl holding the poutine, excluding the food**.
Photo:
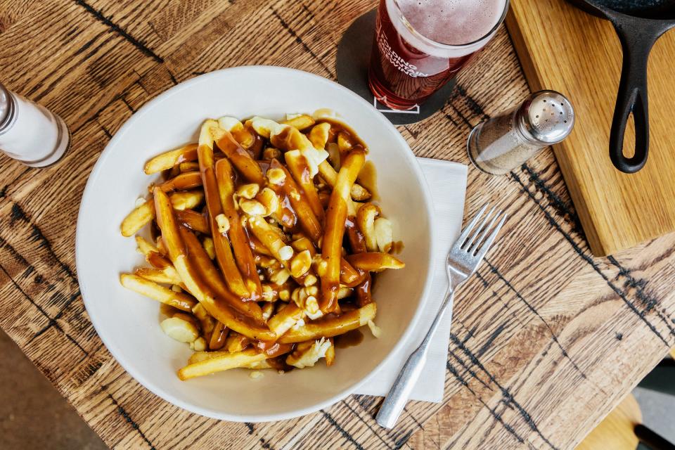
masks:
{"type": "Polygon", "coordinates": [[[77,220],[77,274],[91,322],[115,359],[148,390],[181,408],[212,418],[260,422],[326,408],[366,383],[403,344],[430,288],[432,203],[406,141],[390,122],[352,91],[299,70],[240,67],[212,72],[174,86],[144,105],[110,140],[89,176],[77,220]],[[364,330],[361,345],[338,349],[335,365],[264,371],[252,380],[233,370],[181,381],[176,370],[191,350],[162,333],[159,304],[122,288],[119,274],[143,263],[120,222],[153,178],[143,165],[153,155],[196,141],[208,117],[261,115],[330,108],[369,146],[378,170],[380,205],[404,241],[406,268],[378,276],[375,322],[383,335],[364,330]]]}

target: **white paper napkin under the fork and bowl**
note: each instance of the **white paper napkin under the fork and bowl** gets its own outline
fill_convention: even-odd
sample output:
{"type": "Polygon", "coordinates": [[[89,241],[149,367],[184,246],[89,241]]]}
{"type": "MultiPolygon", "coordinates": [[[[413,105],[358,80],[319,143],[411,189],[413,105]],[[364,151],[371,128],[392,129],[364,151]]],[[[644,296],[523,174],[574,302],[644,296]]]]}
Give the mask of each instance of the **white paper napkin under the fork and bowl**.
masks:
{"type": "MultiPolygon", "coordinates": [[[[356,394],[385,396],[389,392],[406,359],[420,345],[431,326],[448,287],[445,259],[462,228],[467,167],[456,162],[428,158],[417,159],[429,184],[436,212],[433,222],[436,226],[436,243],[432,248],[435,259],[434,278],[427,300],[428,308],[423,312],[417,327],[406,344],[401,347],[397,356],[389,364],[380,368],[368,383],[356,390],[356,394]]],[[[420,380],[413,389],[411,400],[434,401],[435,403],[442,401],[451,321],[452,305],[449,311],[446,311],[431,341],[427,363],[420,375],[420,380]]]]}

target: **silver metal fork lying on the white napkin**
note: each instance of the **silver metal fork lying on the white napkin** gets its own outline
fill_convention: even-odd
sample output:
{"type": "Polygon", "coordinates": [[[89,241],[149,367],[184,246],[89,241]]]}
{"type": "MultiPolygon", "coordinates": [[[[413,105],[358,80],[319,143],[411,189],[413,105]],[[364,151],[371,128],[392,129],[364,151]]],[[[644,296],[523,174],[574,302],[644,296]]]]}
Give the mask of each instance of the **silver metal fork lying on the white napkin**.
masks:
{"type": "Polygon", "coordinates": [[[396,421],[401,415],[401,411],[403,411],[406,406],[410,393],[420,377],[422,368],[427,361],[429,342],[434,333],[436,333],[446,309],[452,304],[452,298],[456,288],[464,283],[474,274],[476,269],[478,269],[487,250],[489,250],[490,245],[492,245],[497,237],[499,229],[501,229],[504,221],[506,221],[506,213],[497,211],[496,214],[493,214],[493,207],[487,216],[484,217],[480,226],[473,231],[478,220],[482,217],[485,210],[487,210],[487,207],[488,205],[482,207],[478,214],[476,214],[465,229],[463,229],[461,235],[454,245],[452,245],[452,248],[448,253],[446,269],[448,272],[449,283],[448,290],[446,290],[445,293],[445,299],[443,300],[427,335],[424,337],[420,346],[409,356],[408,361],[406,361],[403,368],[401,368],[399,376],[396,378],[394,385],[387,394],[387,397],[385,397],[382,407],[380,407],[378,415],[375,417],[378,423],[385,428],[392,428],[396,424],[396,421]],[[499,222],[497,222],[495,226],[497,219],[499,219],[499,222]],[[473,231],[473,233],[469,236],[471,231],[473,231]]]}

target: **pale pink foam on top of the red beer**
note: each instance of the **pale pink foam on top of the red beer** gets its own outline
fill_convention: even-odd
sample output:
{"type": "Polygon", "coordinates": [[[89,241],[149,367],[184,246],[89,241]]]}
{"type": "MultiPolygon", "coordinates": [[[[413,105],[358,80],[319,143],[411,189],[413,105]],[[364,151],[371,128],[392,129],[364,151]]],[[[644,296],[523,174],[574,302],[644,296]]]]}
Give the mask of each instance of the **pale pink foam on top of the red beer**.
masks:
{"type": "Polygon", "coordinates": [[[458,58],[487,44],[506,8],[506,1],[386,0],[386,5],[397,32],[410,44],[434,56],[458,58]],[[409,26],[427,39],[457,47],[438,49],[416,36],[409,26]]]}

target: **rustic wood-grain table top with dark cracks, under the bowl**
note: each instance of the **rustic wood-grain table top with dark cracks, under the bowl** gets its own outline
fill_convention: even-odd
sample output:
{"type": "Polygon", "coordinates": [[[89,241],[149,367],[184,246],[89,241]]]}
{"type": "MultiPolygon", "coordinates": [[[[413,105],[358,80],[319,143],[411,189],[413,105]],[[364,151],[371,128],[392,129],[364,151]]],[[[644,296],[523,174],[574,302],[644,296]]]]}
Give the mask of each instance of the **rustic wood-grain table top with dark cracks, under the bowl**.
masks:
{"type": "MultiPolygon", "coordinates": [[[[196,416],[150,394],[91,326],[75,274],[75,219],[120,125],[174,84],[245,64],[335,79],[336,44],[373,1],[20,0],[0,3],[2,82],[62,115],[55,167],[0,157],[0,325],[114,448],[569,449],[675,344],[675,236],[593,258],[551,153],[492,178],[470,168],[466,214],[507,207],[500,245],[455,301],[442,404],[395,430],[354,395],[278,423],[196,416]]],[[[528,94],[501,29],[429,120],[399,130],[417,155],[468,163],[465,139],[528,94]]]]}

